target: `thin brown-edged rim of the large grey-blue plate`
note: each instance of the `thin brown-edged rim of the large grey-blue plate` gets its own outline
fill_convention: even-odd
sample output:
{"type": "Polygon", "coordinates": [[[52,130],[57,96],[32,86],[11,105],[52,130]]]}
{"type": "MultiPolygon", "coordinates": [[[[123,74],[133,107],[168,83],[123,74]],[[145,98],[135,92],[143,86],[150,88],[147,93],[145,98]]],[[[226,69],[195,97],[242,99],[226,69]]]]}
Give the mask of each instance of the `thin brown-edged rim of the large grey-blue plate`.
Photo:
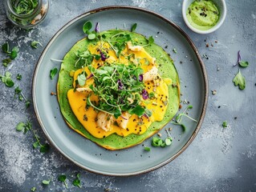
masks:
{"type": "Polygon", "coordinates": [[[43,133],[47,136],[47,140],[48,140],[48,142],[51,143],[51,146],[54,146],[55,149],[58,150],[59,153],[63,155],[63,157],[67,158],[69,161],[73,162],[76,166],[79,166],[83,170],[87,170],[87,171],[89,171],[91,173],[94,173],[94,174],[102,174],[102,175],[108,175],[108,176],[132,176],[132,175],[138,175],[138,174],[145,174],[145,173],[148,173],[152,170],[156,170],[156,169],[159,169],[162,166],[165,166],[169,162],[172,162],[180,154],[182,154],[187,149],[187,147],[191,144],[191,142],[193,142],[193,139],[197,136],[197,133],[201,129],[202,122],[205,118],[205,113],[206,113],[206,108],[207,108],[207,103],[208,103],[208,95],[209,95],[208,87],[209,87],[209,85],[208,85],[207,72],[206,72],[206,69],[205,69],[205,64],[201,59],[201,55],[199,54],[199,52],[197,50],[197,47],[194,45],[191,38],[189,38],[189,35],[186,34],[185,31],[182,30],[180,26],[177,26],[177,24],[175,24],[174,22],[172,22],[168,18],[165,18],[161,14],[157,14],[156,12],[154,12],[152,10],[147,10],[147,9],[144,9],[144,8],[141,8],[141,7],[136,7],[136,6],[103,6],[103,7],[95,8],[93,10],[88,10],[87,12],[85,12],[83,14],[79,14],[75,18],[72,18],[69,22],[67,22],[65,25],[63,25],[52,36],[52,38],[49,40],[49,42],[47,42],[47,46],[45,46],[45,48],[43,49],[43,52],[42,52],[42,54],[40,54],[38,62],[36,63],[36,66],[35,66],[35,70],[34,70],[34,73],[33,73],[33,79],[32,79],[32,90],[31,90],[32,93],[31,94],[32,94],[33,106],[34,106],[34,110],[35,110],[35,116],[36,116],[36,118],[39,122],[39,125],[41,126],[41,128],[43,130],[43,133]],[[36,102],[35,102],[35,100],[36,100],[36,98],[35,98],[35,79],[36,79],[36,76],[37,76],[38,71],[39,71],[40,63],[42,62],[44,55],[47,53],[47,50],[51,47],[51,44],[53,42],[55,42],[56,38],[59,37],[59,34],[61,34],[64,30],[67,29],[68,26],[70,26],[72,23],[75,23],[80,18],[85,18],[90,14],[99,13],[99,12],[102,12],[102,11],[105,11],[105,10],[117,10],[117,9],[137,10],[137,11],[141,11],[141,12],[144,12],[144,13],[147,13],[147,14],[152,14],[153,16],[156,16],[157,18],[160,18],[162,21],[167,22],[167,24],[169,24],[170,26],[173,26],[186,39],[186,41],[189,42],[189,45],[193,49],[193,52],[196,54],[198,62],[199,62],[200,67],[201,67],[203,82],[205,83],[205,85],[204,85],[205,93],[204,93],[204,97],[203,97],[204,102],[203,102],[203,105],[202,105],[202,110],[201,110],[199,121],[197,123],[197,127],[193,131],[193,134],[189,137],[189,140],[185,143],[184,146],[182,146],[181,150],[178,150],[177,153],[173,155],[173,157],[165,160],[164,162],[161,162],[161,163],[157,164],[156,166],[149,167],[148,169],[145,169],[145,170],[138,170],[138,171],[129,172],[129,173],[107,173],[106,171],[93,170],[93,169],[88,168],[87,166],[82,165],[79,162],[76,162],[75,159],[72,159],[71,157],[68,157],[67,154],[65,154],[63,150],[59,149],[59,147],[56,145],[56,143],[51,139],[51,136],[49,134],[47,134],[47,130],[43,126],[43,122],[42,122],[41,118],[39,117],[39,110],[38,110],[38,107],[37,107],[36,102]]]}

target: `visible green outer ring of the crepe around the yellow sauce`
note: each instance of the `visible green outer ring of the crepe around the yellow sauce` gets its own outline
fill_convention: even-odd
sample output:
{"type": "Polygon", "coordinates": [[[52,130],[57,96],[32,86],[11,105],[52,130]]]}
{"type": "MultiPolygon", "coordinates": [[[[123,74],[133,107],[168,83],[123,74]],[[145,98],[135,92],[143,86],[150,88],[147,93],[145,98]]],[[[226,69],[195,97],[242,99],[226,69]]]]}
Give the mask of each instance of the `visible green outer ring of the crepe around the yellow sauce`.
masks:
{"type": "MultiPolygon", "coordinates": [[[[124,33],[130,34],[132,42],[139,42],[140,46],[147,45],[148,40],[141,34],[129,32],[127,30],[108,30],[101,32],[103,35],[103,41],[108,41],[114,34],[124,33]]],[[[87,46],[91,43],[96,44],[95,40],[88,40],[83,38],[79,42],[75,43],[75,46],[65,55],[61,69],[59,70],[58,80],[58,99],[60,110],[63,114],[63,118],[73,130],[82,134],[85,138],[90,139],[92,142],[103,146],[108,150],[120,150],[135,146],[144,141],[144,139],[152,136],[157,131],[161,130],[165,124],[167,124],[173,116],[177,113],[180,104],[180,86],[177,70],[173,65],[173,60],[169,58],[169,55],[155,43],[149,46],[144,46],[144,50],[148,52],[153,58],[156,58],[158,64],[158,73],[162,78],[171,78],[172,84],[169,85],[169,104],[165,113],[165,118],[161,122],[152,122],[152,125],[148,127],[148,130],[144,134],[129,134],[127,137],[122,137],[117,134],[111,134],[106,138],[95,138],[82,126],[71,110],[71,106],[67,100],[67,91],[73,89],[73,78],[69,75],[71,70],[78,70],[79,67],[75,67],[77,56],[75,53],[79,51],[87,50],[87,46]]]]}

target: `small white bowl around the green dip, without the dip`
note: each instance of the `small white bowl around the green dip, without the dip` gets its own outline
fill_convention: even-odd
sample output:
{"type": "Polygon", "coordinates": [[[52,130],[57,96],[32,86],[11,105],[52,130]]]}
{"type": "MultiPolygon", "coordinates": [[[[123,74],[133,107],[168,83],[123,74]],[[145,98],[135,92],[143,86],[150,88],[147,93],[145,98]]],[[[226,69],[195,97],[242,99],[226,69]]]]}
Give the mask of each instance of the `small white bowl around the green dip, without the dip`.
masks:
{"type": "Polygon", "coordinates": [[[186,12],[187,12],[190,4],[192,2],[194,2],[194,1],[195,0],[184,0],[183,1],[183,4],[182,4],[182,16],[183,16],[183,19],[185,21],[185,24],[189,27],[190,30],[193,30],[197,34],[209,34],[209,33],[212,33],[213,31],[217,30],[222,25],[222,23],[224,22],[224,20],[226,18],[226,2],[225,2],[225,0],[211,0],[217,6],[217,9],[220,12],[220,18],[218,19],[216,25],[213,26],[212,28],[210,28],[209,30],[198,30],[195,27],[193,27],[190,24],[190,22],[188,21],[188,18],[186,16],[186,12]]]}

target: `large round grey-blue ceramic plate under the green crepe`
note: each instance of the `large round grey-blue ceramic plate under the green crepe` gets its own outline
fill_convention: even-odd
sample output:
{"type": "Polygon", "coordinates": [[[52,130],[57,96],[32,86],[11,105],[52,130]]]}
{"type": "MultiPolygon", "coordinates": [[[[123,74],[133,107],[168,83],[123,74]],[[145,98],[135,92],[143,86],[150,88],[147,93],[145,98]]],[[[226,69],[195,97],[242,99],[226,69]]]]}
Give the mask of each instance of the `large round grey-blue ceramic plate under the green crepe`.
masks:
{"type": "MultiPolygon", "coordinates": [[[[53,146],[63,156],[85,170],[107,175],[134,175],[155,170],[177,158],[195,138],[205,116],[207,103],[207,77],[205,66],[201,61],[196,47],[189,37],[177,25],[161,15],[148,10],[128,6],[108,6],[91,10],[68,22],[48,43],[39,58],[33,80],[33,102],[35,114],[44,133],[53,146]],[[151,147],[145,151],[141,144],[125,150],[110,151],[97,146],[71,130],[59,110],[59,103],[51,91],[56,92],[57,76],[53,80],[49,71],[60,63],[52,62],[51,58],[62,59],[68,50],[84,38],[83,23],[90,20],[100,22],[100,30],[120,28],[130,30],[137,23],[136,32],[145,36],[153,36],[156,44],[165,48],[175,61],[181,79],[181,100],[187,100],[193,105],[189,114],[197,119],[192,122],[184,118],[187,130],[182,133],[180,126],[173,127],[171,146],[161,148],[151,147]],[[177,54],[173,53],[173,49],[177,54]],[[180,63],[182,62],[182,64],[180,63]]],[[[163,138],[167,135],[161,130],[163,138]]],[[[145,146],[151,146],[151,138],[144,141],[145,146]]]]}

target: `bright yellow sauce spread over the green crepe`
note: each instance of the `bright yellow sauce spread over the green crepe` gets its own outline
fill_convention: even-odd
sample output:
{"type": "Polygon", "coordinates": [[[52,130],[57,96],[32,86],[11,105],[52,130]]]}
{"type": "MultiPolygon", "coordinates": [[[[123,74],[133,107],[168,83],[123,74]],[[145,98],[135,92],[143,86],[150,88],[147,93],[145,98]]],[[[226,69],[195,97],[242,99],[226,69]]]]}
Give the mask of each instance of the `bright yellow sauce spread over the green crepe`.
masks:
{"type": "MultiPolygon", "coordinates": [[[[90,50],[91,54],[99,54],[99,44],[97,46],[88,46],[88,50],[90,50]]],[[[110,48],[108,42],[104,42],[104,48],[110,48]]],[[[154,58],[152,58],[145,50],[142,48],[140,51],[132,51],[128,50],[128,47],[126,47],[123,51],[123,54],[129,55],[129,54],[135,54],[135,57],[133,59],[133,62],[140,63],[140,67],[144,70],[144,73],[146,73],[148,70],[152,69],[153,66],[157,66],[157,64],[154,62],[154,58]],[[149,63],[146,63],[146,61],[149,61],[149,63]]],[[[128,64],[128,59],[124,56],[120,56],[120,58],[116,57],[116,54],[114,50],[108,51],[109,58],[106,59],[106,62],[119,62],[123,64],[128,64]]],[[[132,60],[132,59],[131,59],[132,60]]],[[[99,60],[93,59],[91,62],[91,66],[95,68],[99,68],[100,66],[104,66],[104,62],[99,60]]],[[[88,70],[87,67],[84,67],[82,69],[76,70],[73,74],[74,82],[73,86],[75,87],[75,80],[77,79],[78,75],[83,72],[83,70],[86,71],[88,76],[91,74],[90,70],[88,70]]],[[[159,74],[158,74],[159,76],[159,74]]],[[[160,76],[159,76],[160,77],[160,76]]],[[[93,78],[89,78],[86,81],[85,86],[88,87],[91,84],[94,83],[93,78]]],[[[110,134],[118,134],[120,136],[127,136],[128,134],[144,134],[144,132],[148,129],[148,127],[152,124],[152,122],[155,121],[161,121],[164,118],[165,111],[168,106],[169,101],[169,90],[167,84],[171,84],[171,79],[165,79],[165,81],[161,78],[156,80],[155,82],[144,82],[145,90],[148,91],[148,93],[153,92],[153,88],[155,87],[155,96],[156,98],[153,99],[146,99],[144,100],[141,98],[140,106],[145,106],[148,110],[152,111],[152,116],[149,118],[146,118],[142,116],[139,118],[136,114],[132,114],[130,118],[128,119],[128,124],[126,129],[123,129],[117,125],[121,121],[124,120],[124,118],[114,118],[114,122],[117,122],[117,125],[112,123],[111,130],[105,131],[97,126],[96,124],[96,118],[97,118],[97,112],[93,107],[87,106],[87,95],[91,94],[91,101],[95,101],[96,103],[99,102],[98,96],[91,92],[79,92],[74,91],[73,89],[69,90],[67,92],[67,98],[68,102],[70,103],[71,110],[75,114],[76,118],[79,120],[79,122],[83,125],[83,127],[95,138],[105,138],[108,137],[110,134]],[[157,83],[158,86],[155,86],[157,83]]]]}

